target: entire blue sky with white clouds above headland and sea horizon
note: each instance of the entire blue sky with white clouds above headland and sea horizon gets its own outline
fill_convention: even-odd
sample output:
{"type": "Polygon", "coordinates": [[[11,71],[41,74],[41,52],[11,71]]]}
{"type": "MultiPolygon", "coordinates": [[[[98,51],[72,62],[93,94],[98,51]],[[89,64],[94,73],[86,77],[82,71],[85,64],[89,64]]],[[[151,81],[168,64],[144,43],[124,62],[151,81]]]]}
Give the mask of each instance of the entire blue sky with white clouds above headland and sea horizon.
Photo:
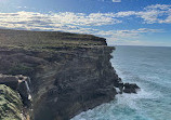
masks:
{"type": "Polygon", "coordinates": [[[171,0],[0,0],[0,28],[91,34],[171,46],[171,0]]]}

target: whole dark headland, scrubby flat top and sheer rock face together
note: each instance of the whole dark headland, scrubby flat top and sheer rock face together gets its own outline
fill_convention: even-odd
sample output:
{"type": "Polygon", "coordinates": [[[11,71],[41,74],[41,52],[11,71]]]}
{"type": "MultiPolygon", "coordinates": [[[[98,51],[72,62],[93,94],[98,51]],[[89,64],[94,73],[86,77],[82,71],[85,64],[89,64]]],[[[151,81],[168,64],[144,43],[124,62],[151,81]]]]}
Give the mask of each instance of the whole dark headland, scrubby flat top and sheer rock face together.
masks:
{"type": "Polygon", "coordinates": [[[109,102],[121,80],[103,38],[0,30],[0,72],[29,76],[35,120],[68,120],[109,102]]]}

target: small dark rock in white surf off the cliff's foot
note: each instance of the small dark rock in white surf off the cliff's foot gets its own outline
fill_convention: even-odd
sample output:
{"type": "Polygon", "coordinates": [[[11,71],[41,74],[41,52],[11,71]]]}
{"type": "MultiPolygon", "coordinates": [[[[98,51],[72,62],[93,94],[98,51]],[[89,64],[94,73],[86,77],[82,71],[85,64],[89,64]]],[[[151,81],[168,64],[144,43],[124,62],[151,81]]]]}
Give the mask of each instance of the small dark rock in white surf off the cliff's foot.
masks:
{"type": "Polygon", "coordinates": [[[136,91],[140,89],[135,83],[124,83],[123,86],[124,93],[136,93],[136,91]]]}

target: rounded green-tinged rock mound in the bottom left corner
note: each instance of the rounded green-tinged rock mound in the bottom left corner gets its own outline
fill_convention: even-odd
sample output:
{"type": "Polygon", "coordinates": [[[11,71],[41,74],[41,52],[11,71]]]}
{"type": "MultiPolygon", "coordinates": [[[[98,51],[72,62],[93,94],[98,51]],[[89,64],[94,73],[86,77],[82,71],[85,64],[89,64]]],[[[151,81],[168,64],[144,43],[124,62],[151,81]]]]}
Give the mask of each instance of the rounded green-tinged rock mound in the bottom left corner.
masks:
{"type": "Polygon", "coordinates": [[[22,107],[18,94],[0,84],[0,120],[22,120],[22,107]]]}

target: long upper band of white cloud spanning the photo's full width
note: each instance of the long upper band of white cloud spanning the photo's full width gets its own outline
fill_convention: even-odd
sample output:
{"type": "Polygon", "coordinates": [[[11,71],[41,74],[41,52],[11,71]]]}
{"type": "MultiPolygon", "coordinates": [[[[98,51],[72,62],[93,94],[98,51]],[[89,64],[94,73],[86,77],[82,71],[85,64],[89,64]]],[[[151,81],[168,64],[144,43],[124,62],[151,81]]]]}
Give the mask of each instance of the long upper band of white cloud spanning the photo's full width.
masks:
{"type": "Polygon", "coordinates": [[[54,29],[69,27],[105,26],[124,23],[127,17],[140,17],[142,24],[171,24],[171,5],[156,4],[144,8],[143,11],[124,11],[118,13],[38,13],[16,12],[0,13],[0,27],[26,29],[54,29]],[[124,21],[122,19],[124,17],[124,21]]]}

